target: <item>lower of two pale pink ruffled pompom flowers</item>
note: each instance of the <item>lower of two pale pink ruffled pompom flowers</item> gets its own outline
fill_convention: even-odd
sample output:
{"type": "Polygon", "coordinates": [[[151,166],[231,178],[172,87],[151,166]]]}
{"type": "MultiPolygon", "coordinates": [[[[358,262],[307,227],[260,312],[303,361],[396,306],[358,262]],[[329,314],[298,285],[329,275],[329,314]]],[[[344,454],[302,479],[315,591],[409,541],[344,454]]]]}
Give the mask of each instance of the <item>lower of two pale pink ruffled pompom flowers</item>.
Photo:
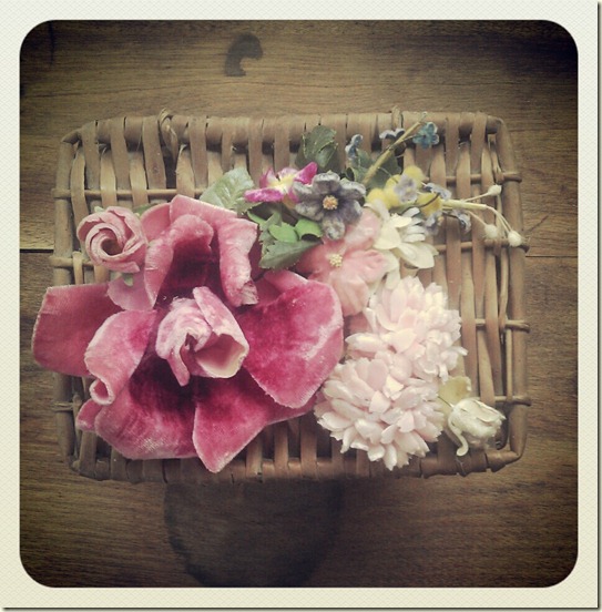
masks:
{"type": "Polygon", "coordinates": [[[373,359],[338,364],[322,388],[315,407],[318,422],[343,442],[341,452],[361,449],[371,461],[392,470],[410,456],[424,457],[442,430],[437,385],[417,378],[399,379],[390,351],[373,359]]]}

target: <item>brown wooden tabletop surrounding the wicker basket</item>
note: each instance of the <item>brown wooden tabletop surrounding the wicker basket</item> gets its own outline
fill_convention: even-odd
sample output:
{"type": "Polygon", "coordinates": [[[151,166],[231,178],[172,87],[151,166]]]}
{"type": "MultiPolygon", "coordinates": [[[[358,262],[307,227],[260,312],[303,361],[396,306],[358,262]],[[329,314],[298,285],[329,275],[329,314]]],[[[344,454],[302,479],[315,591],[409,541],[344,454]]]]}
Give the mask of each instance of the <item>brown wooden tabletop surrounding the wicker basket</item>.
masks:
{"type": "MultiPolygon", "coordinates": [[[[197,586],[201,572],[191,569],[186,549],[196,549],[205,569],[213,560],[224,571],[233,551],[239,565],[257,565],[286,539],[269,529],[269,517],[285,511],[275,489],[194,491],[200,527],[186,534],[165,523],[164,486],[73,475],[54,437],[51,374],[30,355],[51,283],[50,190],[60,139],[93,119],[164,106],[257,116],[387,112],[397,104],[483,111],[507,122],[523,175],[524,226],[537,226],[527,257],[533,402],[527,452],[497,473],[305,490],[316,504],[330,500],[335,536],[316,552],[312,571],[295,558],[288,563],[289,570],[300,563],[298,583],[306,586],[547,586],[571,572],[578,116],[577,54],[564,30],[520,21],[54,22],[28,35],[21,69],[21,559],[32,578],[51,586],[197,586]],[[226,67],[228,49],[244,34],[258,39],[261,58],[231,55],[226,67]],[[235,75],[237,65],[244,75],[235,75]],[[241,503],[244,496],[253,503],[241,503]],[[241,544],[244,532],[251,550],[241,544]]],[[[177,494],[169,493],[172,508],[177,494]]],[[[330,523],[302,514],[289,529],[315,545],[330,523]]],[[[194,517],[186,520],[193,524],[194,517]]]]}

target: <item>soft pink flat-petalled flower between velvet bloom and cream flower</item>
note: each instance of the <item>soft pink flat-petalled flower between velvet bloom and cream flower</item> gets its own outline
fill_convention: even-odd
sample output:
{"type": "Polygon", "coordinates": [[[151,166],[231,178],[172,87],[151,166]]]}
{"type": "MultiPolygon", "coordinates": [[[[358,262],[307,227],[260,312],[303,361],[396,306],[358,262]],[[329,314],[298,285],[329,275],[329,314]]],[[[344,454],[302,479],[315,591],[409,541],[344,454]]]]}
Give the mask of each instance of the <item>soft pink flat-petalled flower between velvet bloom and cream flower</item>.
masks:
{"type": "Polygon", "coordinates": [[[364,210],[359,222],[340,241],[326,241],[306,252],[297,264],[309,278],[330,285],[337,293],[343,315],[361,312],[368,303],[371,285],[387,271],[385,256],[370,248],[380,228],[377,216],[364,210]]]}

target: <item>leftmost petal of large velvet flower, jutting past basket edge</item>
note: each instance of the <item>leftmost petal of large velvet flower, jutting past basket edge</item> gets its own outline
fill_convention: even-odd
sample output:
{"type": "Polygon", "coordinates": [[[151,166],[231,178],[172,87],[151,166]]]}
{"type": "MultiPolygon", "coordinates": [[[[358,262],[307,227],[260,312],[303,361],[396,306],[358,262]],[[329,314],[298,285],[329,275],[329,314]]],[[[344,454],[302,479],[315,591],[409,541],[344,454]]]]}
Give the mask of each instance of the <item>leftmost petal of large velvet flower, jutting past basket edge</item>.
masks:
{"type": "Polygon", "coordinates": [[[121,308],[106,294],[108,284],[50,287],[33,328],[33,357],[44,368],[89,376],[88,345],[101,325],[121,308]]]}

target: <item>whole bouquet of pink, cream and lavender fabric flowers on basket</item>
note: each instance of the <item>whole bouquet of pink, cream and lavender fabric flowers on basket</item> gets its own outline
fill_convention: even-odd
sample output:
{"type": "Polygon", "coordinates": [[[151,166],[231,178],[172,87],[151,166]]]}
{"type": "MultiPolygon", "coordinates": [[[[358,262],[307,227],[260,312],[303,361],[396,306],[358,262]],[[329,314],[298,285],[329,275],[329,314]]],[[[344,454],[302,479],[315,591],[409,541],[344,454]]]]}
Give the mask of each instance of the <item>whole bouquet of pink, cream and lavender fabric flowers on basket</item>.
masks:
{"type": "MultiPolygon", "coordinates": [[[[519,246],[501,186],[456,200],[404,164],[439,140],[425,118],[380,134],[382,152],[305,134],[295,167],[255,185],[244,169],[200,197],[98,208],[78,227],[108,280],[49,288],[33,353],[86,381],[76,426],[124,457],[198,457],[222,470],[266,426],[314,411],[341,442],[388,469],[448,436],[484,448],[503,415],[453,376],[466,354],[430,236],[447,217],[519,246]]],[[[475,236],[475,233],[473,233],[475,236]]],[[[476,239],[473,237],[473,239],[476,239]]]]}

